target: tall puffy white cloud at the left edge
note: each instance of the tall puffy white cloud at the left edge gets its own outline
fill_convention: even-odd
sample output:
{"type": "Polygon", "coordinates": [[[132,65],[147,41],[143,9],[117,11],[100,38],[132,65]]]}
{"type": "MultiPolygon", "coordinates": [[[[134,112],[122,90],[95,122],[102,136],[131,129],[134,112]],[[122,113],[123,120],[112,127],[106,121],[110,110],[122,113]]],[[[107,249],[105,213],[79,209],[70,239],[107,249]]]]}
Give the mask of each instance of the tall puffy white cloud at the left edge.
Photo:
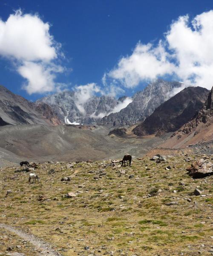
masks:
{"type": "Polygon", "coordinates": [[[15,62],[17,72],[26,79],[23,88],[29,93],[55,90],[55,76],[63,72],[54,64],[60,44],[49,34],[49,23],[38,15],[20,10],[4,22],[0,20],[0,55],[15,62]]]}

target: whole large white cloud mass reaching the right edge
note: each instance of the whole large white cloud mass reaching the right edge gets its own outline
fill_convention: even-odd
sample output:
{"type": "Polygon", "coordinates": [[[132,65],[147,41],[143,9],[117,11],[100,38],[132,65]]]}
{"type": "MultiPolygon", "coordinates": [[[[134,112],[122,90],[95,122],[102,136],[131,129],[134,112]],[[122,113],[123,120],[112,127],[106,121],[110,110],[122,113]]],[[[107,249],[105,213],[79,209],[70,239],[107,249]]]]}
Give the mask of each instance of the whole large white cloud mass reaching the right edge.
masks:
{"type": "Polygon", "coordinates": [[[132,55],[121,58],[108,73],[125,87],[165,75],[185,85],[210,89],[213,81],[213,11],[190,21],[188,15],[174,21],[157,46],[139,42],[132,55]]]}

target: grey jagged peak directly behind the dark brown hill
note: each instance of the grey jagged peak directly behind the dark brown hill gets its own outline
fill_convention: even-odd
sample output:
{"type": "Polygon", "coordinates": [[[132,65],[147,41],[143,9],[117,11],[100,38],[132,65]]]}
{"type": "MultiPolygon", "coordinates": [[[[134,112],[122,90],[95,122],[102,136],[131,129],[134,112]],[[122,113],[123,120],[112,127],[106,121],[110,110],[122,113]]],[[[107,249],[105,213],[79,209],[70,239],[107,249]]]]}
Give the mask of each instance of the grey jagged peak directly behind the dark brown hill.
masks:
{"type": "Polygon", "coordinates": [[[150,116],[155,108],[170,99],[173,90],[181,87],[181,83],[168,82],[162,79],[147,85],[147,87],[135,93],[132,102],[118,113],[104,116],[100,125],[125,126],[142,122],[150,116]]]}

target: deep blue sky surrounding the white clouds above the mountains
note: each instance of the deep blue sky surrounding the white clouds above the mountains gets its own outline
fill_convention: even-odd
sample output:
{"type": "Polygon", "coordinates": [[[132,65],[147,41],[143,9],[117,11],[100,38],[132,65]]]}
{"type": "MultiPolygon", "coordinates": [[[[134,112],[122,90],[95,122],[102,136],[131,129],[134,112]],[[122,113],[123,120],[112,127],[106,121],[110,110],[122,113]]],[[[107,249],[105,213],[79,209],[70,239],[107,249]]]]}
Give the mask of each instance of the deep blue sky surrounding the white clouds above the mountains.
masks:
{"type": "MultiPolygon", "coordinates": [[[[142,54],[145,51],[145,53],[156,55],[156,49],[153,49],[153,53],[152,47],[157,47],[159,40],[164,41],[164,33],[170,30],[173,20],[176,21],[178,17],[187,14],[189,19],[193,20],[196,15],[213,9],[213,2],[207,0],[2,0],[0,2],[1,20],[6,22],[9,16],[18,9],[21,9],[21,15],[30,14],[33,17],[37,14],[43,23],[51,24],[48,30],[49,35],[54,37],[54,41],[61,44],[58,58],[51,60],[51,65],[63,67],[63,72],[55,72],[54,83],[66,85],[68,88],[95,83],[100,88],[100,90],[96,90],[96,93],[103,93],[102,78],[105,73],[108,77],[105,87],[113,84],[115,88],[121,88],[116,96],[121,94],[131,96],[132,93],[143,89],[148,81],[156,77],[166,76],[169,79],[174,79],[178,76],[177,79],[183,78],[183,81],[189,81],[189,77],[191,79],[192,76],[189,76],[189,73],[183,74],[182,70],[176,72],[171,67],[171,64],[178,62],[177,58],[170,60],[166,66],[165,61],[163,61],[164,68],[170,70],[168,73],[163,68],[163,71],[160,70],[154,76],[147,75],[147,71],[144,76],[138,74],[135,77],[135,72],[140,72],[140,70],[137,71],[138,68],[136,67],[135,71],[135,65],[130,70],[126,69],[128,61],[130,61],[127,60],[127,55],[132,55],[139,41],[141,42],[141,45],[138,46],[140,56],[141,51],[142,54]],[[144,50],[143,45],[149,43],[153,44],[152,47],[144,50]],[[63,56],[61,56],[62,54],[63,56]],[[118,64],[123,56],[126,59],[124,58],[124,63],[120,63],[119,69],[118,64]],[[129,78],[131,81],[128,80],[129,78]]],[[[170,44],[174,45],[173,42],[170,44]]],[[[165,46],[166,52],[171,53],[168,48],[168,45],[165,46]]],[[[181,58],[182,55],[179,54],[178,56],[181,58]]],[[[163,57],[160,58],[162,62],[163,57]]],[[[171,59],[172,57],[166,55],[165,58],[171,59]]],[[[200,66],[199,61],[200,59],[197,66],[200,66]]],[[[196,59],[193,59],[193,63],[195,62],[196,59]]],[[[148,63],[152,62],[148,61],[148,63]]],[[[26,63],[24,65],[26,68],[26,63]]],[[[23,72],[20,70],[22,66],[23,63],[20,64],[20,59],[1,54],[0,51],[0,84],[30,100],[54,92],[54,89],[47,92],[41,89],[39,93],[32,90],[29,93],[29,90],[23,90],[23,83],[26,84],[27,79],[23,75],[25,70],[22,70],[23,72]]],[[[200,70],[198,70],[199,72],[200,70]]],[[[199,77],[202,76],[204,75],[201,74],[199,77]]],[[[205,79],[207,77],[205,75],[205,79]]],[[[199,82],[204,83],[205,79],[201,81],[197,79],[193,82],[200,85],[199,82]]]]}

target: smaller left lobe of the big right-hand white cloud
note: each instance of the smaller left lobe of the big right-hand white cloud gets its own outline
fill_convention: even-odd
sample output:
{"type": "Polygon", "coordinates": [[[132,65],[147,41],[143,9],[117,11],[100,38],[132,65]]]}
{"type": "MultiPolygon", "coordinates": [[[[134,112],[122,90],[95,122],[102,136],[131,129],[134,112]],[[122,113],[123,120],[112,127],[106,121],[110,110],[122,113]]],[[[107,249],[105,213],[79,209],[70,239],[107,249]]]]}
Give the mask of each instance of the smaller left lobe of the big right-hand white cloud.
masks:
{"type": "Polygon", "coordinates": [[[173,73],[174,64],[170,63],[169,57],[161,41],[157,47],[139,42],[132,55],[121,58],[109,76],[120,80],[125,87],[135,87],[140,81],[173,73]]]}

